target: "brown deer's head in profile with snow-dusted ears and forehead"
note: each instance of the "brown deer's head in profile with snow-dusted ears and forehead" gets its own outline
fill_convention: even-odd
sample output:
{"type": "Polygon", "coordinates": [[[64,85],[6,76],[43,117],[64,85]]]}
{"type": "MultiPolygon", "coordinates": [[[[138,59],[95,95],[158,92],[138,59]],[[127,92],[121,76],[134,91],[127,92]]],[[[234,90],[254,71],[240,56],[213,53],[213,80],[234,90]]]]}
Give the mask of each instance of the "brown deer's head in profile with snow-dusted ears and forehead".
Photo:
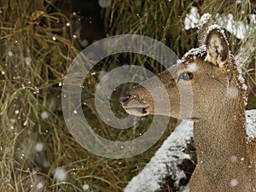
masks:
{"type": "Polygon", "coordinates": [[[207,119],[220,113],[225,105],[241,95],[242,82],[237,78],[233,55],[230,55],[224,32],[214,24],[211,16],[202,17],[198,38],[201,46],[190,49],[183,55],[181,62],[127,91],[122,101],[127,113],[207,119]],[[154,106],[151,94],[156,92],[155,79],[160,79],[168,93],[171,105],[168,113],[165,110],[167,102],[160,93],[157,99],[161,106],[154,106]],[[149,90],[145,87],[149,87],[149,90]],[[192,113],[188,110],[190,105],[193,106],[192,113]]]}

